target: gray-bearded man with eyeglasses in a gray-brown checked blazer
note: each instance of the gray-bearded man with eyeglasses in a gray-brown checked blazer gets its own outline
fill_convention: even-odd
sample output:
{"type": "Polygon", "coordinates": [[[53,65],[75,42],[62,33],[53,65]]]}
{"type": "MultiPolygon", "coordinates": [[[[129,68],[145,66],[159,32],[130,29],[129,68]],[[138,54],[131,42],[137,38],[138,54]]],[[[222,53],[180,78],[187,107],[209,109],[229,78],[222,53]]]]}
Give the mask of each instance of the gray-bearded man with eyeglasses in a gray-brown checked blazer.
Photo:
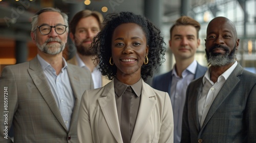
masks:
{"type": "Polygon", "coordinates": [[[78,107],[93,80],[89,70],[62,57],[68,30],[68,16],[58,9],[44,8],[32,18],[37,56],[6,66],[0,77],[0,142],[13,141],[11,126],[14,142],[78,142],[78,107]]]}

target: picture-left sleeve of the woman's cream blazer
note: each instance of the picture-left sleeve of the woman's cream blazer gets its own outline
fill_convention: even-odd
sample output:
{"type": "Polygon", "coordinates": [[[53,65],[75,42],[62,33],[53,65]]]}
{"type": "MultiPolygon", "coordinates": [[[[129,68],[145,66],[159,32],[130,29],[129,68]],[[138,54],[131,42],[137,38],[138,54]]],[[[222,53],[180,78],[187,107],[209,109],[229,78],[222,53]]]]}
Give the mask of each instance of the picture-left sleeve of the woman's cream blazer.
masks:
{"type": "Polygon", "coordinates": [[[84,91],[80,108],[78,112],[77,121],[77,135],[80,143],[82,142],[93,142],[92,129],[90,124],[89,114],[89,94],[88,90],[84,91]]]}

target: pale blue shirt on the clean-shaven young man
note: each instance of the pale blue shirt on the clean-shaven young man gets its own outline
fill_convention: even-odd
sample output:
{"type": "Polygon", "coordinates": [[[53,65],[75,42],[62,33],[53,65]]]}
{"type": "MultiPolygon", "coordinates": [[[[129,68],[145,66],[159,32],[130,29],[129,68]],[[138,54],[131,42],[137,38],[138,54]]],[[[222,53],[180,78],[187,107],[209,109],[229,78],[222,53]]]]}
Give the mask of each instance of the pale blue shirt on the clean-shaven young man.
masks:
{"type": "Polygon", "coordinates": [[[194,60],[184,71],[182,77],[177,75],[175,65],[172,71],[172,84],[170,85],[170,100],[172,101],[174,114],[174,142],[181,141],[181,126],[183,108],[186,100],[186,89],[188,84],[194,80],[197,69],[197,62],[194,60]]]}

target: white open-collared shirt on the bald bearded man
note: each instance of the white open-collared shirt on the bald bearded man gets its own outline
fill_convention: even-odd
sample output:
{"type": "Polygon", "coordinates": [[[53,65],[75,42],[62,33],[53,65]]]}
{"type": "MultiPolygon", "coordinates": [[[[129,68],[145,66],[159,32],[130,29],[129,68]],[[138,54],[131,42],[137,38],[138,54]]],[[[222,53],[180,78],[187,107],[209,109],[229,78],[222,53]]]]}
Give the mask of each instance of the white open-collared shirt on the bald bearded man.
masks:
{"type": "Polygon", "coordinates": [[[230,76],[237,65],[238,62],[234,62],[231,67],[229,67],[222,75],[218,77],[216,83],[210,80],[210,68],[208,68],[206,71],[203,77],[203,88],[198,99],[198,118],[200,127],[203,126],[205,117],[210,109],[212,102],[214,102],[223,84],[226,82],[227,78],[230,76]]]}

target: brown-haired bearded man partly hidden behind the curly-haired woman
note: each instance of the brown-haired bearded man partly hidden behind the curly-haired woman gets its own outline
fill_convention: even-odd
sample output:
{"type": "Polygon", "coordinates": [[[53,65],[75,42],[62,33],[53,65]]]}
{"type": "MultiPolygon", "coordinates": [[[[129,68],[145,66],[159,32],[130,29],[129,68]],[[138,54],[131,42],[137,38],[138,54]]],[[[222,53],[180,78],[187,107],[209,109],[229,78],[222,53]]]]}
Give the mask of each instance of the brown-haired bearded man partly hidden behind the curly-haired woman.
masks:
{"type": "Polygon", "coordinates": [[[94,61],[95,53],[91,49],[93,38],[102,28],[103,16],[97,11],[82,10],[75,14],[70,22],[70,38],[76,45],[76,55],[68,60],[68,63],[78,65],[89,69],[92,74],[94,88],[104,86],[109,82],[108,79],[101,76],[97,68],[97,62],[94,61]]]}

